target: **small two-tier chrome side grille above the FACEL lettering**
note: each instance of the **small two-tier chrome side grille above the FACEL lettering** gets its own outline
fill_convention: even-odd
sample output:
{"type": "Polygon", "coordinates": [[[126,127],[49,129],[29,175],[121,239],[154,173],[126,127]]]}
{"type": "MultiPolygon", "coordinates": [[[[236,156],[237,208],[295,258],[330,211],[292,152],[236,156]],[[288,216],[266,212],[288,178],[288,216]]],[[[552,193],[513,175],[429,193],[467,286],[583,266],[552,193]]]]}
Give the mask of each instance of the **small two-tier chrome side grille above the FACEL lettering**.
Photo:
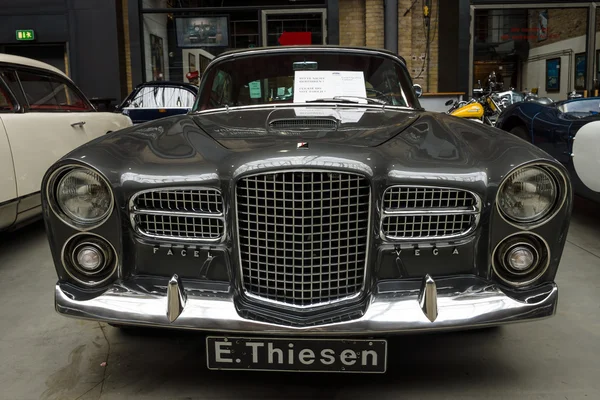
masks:
{"type": "Polygon", "coordinates": [[[136,232],[157,239],[219,241],[225,235],[221,192],[213,188],[152,189],[130,201],[136,232]]]}

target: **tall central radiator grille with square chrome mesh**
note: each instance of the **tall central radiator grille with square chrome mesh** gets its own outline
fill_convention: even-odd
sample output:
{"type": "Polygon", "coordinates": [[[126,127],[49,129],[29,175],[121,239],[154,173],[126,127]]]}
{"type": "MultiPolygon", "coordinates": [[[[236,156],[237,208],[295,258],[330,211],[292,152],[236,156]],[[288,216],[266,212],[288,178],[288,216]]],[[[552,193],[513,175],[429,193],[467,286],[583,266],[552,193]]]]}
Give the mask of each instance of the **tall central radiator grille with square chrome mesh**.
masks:
{"type": "Polygon", "coordinates": [[[237,182],[246,293],[294,307],[357,296],[363,286],[371,190],[357,174],[285,171],[237,182]]]}

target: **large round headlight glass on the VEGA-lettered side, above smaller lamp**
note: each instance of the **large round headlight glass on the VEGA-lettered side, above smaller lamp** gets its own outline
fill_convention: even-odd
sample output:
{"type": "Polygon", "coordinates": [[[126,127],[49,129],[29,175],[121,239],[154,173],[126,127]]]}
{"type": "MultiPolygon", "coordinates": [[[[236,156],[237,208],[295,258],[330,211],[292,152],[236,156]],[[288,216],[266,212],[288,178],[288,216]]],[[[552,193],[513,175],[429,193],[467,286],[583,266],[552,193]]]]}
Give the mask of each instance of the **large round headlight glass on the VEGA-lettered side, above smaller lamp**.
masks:
{"type": "Polygon", "coordinates": [[[523,167],[502,183],[498,206],[507,218],[531,223],[548,215],[557,198],[556,183],[548,171],[540,167],[523,167]]]}

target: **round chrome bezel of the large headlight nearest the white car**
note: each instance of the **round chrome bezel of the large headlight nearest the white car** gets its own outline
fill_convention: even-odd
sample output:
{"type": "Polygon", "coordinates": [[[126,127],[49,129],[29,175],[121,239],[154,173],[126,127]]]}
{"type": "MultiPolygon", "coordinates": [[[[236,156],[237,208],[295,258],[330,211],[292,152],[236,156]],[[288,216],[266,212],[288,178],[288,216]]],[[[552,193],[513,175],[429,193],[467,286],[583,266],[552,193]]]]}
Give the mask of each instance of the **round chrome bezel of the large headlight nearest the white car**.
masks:
{"type": "Polygon", "coordinates": [[[50,206],[50,209],[54,213],[54,215],[56,215],[66,225],[70,226],[71,228],[82,231],[82,232],[98,228],[99,226],[104,224],[112,215],[114,207],[115,207],[114,193],[113,193],[112,187],[109,184],[108,180],[104,177],[104,175],[102,175],[96,169],[94,169],[88,165],[82,165],[82,164],[64,165],[64,166],[58,168],[56,171],[54,171],[52,173],[52,175],[50,176],[50,178],[48,179],[47,184],[46,184],[46,198],[48,199],[48,204],[50,206]],[[88,170],[88,171],[92,172],[93,174],[97,175],[99,180],[105,185],[105,187],[109,193],[110,203],[109,203],[109,206],[108,206],[106,212],[104,212],[104,214],[102,216],[100,216],[99,218],[94,219],[89,222],[85,221],[83,219],[73,218],[73,217],[69,216],[67,213],[65,213],[63,211],[63,207],[61,206],[60,202],[58,201],[58,197],[57,197],[58,185],[62,182],[63,178],[68,173],[70,173],[74,170],[77,170],[77,169],[88,170]]]}

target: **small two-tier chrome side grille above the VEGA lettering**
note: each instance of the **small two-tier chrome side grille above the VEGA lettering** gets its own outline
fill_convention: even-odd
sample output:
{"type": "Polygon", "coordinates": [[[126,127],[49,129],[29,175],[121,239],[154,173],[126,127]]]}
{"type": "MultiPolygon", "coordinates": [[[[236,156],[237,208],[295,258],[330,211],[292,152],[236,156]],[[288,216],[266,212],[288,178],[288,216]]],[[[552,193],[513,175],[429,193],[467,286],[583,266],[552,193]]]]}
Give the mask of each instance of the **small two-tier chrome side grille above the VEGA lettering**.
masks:
{"type": "Polygon", "coordinates": [[[392,186],[383,195],[381,231],[388,239],[450,239],[472,232],[481,205],[468,191],[392,186]]]}

